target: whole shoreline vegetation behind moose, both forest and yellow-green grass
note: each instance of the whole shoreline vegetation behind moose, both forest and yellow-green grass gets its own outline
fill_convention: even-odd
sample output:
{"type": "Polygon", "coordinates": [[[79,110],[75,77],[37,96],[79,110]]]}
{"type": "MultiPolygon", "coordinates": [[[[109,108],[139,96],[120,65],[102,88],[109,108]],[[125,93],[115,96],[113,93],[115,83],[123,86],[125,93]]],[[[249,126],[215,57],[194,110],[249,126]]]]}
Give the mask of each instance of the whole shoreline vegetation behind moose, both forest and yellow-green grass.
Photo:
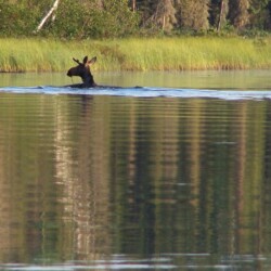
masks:
{"type": "Polygon", "coordinates": [[[0,72],[271,67],[271,0],[0,0],[0,72]]]}

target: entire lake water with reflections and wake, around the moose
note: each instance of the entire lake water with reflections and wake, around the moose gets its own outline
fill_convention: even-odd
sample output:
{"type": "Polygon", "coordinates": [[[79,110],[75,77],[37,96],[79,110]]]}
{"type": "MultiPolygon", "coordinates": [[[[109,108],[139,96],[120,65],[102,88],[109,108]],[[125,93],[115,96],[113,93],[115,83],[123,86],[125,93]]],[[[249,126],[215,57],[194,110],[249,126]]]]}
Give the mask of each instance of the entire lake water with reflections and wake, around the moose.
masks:
{"type": "Polygon", "coordinates": [[[95,78],[0,74],[0,270],[270,270],[270,70],[95,78]]]}

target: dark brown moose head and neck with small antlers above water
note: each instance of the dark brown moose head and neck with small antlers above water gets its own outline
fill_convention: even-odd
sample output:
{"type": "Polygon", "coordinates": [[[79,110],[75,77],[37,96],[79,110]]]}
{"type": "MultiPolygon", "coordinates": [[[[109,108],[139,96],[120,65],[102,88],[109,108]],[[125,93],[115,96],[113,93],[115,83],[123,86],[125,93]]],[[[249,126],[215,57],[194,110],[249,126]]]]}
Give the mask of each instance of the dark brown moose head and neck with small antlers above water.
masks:
{"type": "Polygon", "coordinates": [[[91,60],[88,60],[88,56],[85,56],[82,60],[82,63],[80,63],[78,60],[73,59],[74,62],[76,62],[78,65],[75,67],[72,67],[67,72],[67,76],[79,76],[82,79],[82,88],[92,88],[95,87],[96,83],[94,82],[93,76],[90,72],[90,65],[94,64],[96,62],[96,56],[92,57],[91,60]]]}

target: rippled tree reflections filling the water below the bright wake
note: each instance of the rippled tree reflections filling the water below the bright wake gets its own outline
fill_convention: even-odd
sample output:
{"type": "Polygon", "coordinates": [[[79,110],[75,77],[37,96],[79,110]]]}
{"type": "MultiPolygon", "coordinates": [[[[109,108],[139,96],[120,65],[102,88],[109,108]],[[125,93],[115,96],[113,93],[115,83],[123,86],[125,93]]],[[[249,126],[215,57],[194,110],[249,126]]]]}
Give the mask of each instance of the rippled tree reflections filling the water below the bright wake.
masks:
{"type": "Polygon", "coordinates": [[[1,258],[269,253],[270,102],[22,102],[0,101],[1,258]]]}

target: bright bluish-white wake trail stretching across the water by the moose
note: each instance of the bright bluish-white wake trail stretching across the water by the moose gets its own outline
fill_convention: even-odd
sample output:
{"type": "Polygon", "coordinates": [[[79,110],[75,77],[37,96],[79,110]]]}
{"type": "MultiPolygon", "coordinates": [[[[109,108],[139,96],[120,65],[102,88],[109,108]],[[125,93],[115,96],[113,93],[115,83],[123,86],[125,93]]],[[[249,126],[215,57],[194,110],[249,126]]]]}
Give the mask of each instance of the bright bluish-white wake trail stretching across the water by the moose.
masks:
{"type": "Polygon", "coordinates": [[[202,98],[222,100],[264,100],[271,99],[271,89],[240,90],[240,89],[172,89],[172,88],[118,88],[99,87],[90,89],[75,89],[67,87],[4,87],[1,92],[9,93],[40,93],[40,94],[76,94],[76,95],[114,95],[132,98],[202,98]]]}

